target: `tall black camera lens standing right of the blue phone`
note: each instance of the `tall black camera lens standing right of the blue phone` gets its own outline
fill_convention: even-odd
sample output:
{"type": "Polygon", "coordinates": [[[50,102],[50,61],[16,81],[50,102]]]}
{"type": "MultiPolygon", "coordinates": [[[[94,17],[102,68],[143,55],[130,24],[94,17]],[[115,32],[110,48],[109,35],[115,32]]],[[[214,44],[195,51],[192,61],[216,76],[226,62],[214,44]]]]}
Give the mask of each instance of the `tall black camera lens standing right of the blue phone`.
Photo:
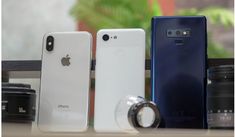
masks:
{"type": "Polygon", "coordinates": [[[213,129],[234,128],[234,67],[223,65],[208,71],[207,121],[213,129]]]}

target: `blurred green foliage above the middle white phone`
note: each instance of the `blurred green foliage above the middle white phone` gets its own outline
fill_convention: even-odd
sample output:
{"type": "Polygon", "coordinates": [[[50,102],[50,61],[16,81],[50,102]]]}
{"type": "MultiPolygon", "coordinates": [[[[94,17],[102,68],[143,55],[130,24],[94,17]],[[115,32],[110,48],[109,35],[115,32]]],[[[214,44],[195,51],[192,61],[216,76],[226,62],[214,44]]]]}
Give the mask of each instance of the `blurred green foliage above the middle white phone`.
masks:
{"type": "Polygon", "coordinates": [[[162,15],[155,0],[151,6],[147,0],[78,0],[71,14],[96,31],[102,28],[143,28],[149,58],[151,18],[162,15]]]}

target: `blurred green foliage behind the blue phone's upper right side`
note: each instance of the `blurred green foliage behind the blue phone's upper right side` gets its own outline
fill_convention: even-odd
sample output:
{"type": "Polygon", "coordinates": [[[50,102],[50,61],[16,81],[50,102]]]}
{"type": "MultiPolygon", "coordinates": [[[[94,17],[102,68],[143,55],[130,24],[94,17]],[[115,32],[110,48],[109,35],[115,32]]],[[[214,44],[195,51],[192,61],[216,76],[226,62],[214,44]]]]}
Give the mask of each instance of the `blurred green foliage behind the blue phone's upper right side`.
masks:
{"type": "MultiPolygon", "coordinates": [[[[231,10],[221,7],[208,7],[205,9],[183,9],[177,12],[181,16],[197,16],[203,15],[212,25],[222,25],[225,29],[234,28],[234,14],[231,10]]],[[[232,57],[232,53],[225,50],[222,45],[213,41],[213,35],[208,32],[208,57],[210,58],[226,58],[232,57]]]]}

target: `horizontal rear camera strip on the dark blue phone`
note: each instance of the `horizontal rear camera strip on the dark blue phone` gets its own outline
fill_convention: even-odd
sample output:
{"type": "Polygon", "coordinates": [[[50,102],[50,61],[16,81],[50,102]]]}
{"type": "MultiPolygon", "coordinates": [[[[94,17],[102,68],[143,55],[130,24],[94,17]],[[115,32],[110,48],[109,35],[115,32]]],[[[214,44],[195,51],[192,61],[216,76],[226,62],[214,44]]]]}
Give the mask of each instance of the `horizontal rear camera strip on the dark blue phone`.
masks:
{"type": "Polygon", "coordinates": [[[190,37],[190,29],[168,29],[167,37],[190,37]]]}

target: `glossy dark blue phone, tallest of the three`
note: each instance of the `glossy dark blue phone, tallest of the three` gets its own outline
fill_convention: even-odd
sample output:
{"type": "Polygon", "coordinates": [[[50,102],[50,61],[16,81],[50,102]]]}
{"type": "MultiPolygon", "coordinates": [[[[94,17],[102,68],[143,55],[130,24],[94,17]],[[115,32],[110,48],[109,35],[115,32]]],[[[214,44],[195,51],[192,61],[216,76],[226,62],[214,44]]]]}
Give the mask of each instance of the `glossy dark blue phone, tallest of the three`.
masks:
{"type": "Polygon", "coordinates": [[[151,96],[160,127],[206,128],[206,18],[153,17],[151,37],[151,96]]]}

